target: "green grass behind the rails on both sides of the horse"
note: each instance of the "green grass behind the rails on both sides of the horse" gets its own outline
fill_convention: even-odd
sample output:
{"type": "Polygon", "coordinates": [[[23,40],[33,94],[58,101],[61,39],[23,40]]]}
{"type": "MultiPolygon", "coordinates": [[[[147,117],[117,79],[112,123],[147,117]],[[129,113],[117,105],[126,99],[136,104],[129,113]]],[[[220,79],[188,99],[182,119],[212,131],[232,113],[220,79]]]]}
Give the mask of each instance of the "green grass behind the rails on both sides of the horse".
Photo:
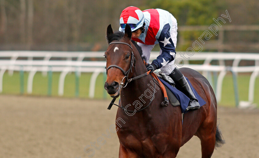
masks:
{"type": "MultiPolygon", "coordinates": [[[[90,77],[92,73],[82,73],[79,77],[79,98],[88,98],[89,95],[89,85],[90,85],[90,77]]],[[[24,95],[27,94],[27,79],[28,73],[23,74],[24,79],[24,95]]],[[[58,96],[58,82],[59,82],[60,73],[52,74],[52,82],[51,82],[51,96],[58,96]]],[[[105,75],[106,77],[106,75],[105,75]]],[[[248,100],[248,88],[249,88],[249,79],[250,74],[239,74],[237,77],[238,82],[238,90],[239,90],[239,101],[247,101],[248,100]]],[[[97,77],[96,85],[95,85],[95,99],[101,98],[109,98],[109,95],[105,91],[104,82],[105,78],[103,74],[100,74],[97,77]]],[[[3,76],[3,91],[2,94],[20,94],[20,73],[14,72],[12,76],[8,73],[5,73],[3,76]]],[[[213,85],[213,84],[212,84],[213,85]]],[[[254,92],[254,103],[259,105],[259,77],[256,79],[255,84],[255,92],[254,92]]],[[[31,95],[37,96],[47,96],[48,95],[48,77],[43,76],[42,73],[38,72],[34,76],[33,80],[33,89],[31,95]]],[[[64,97],[75,97],[76,95],[76,78],[74,73],[69,73],[65,77],[64,83],[64,97]]],[[[227,74],[223,80],[223,88],[222,88],[222,96],[221,102],[219,102],[222,106],[235,106],[235,96],[234,96],[234,86],[232,75],[227,74]]],[[[259,107],[259,106],[258,106],[259,107]]]]}

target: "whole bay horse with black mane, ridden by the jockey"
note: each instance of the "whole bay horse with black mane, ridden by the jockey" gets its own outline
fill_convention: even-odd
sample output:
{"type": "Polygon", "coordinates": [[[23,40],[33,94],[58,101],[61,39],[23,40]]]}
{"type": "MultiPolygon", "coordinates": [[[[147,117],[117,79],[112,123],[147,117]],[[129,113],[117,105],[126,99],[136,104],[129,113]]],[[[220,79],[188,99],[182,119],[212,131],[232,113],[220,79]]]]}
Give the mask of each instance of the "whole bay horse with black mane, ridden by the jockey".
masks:
{"type": "Polygon", "coordinates": [[[117,128],[119,158],[175,158],[193,135],[201,141],[202,158],[210,158],[215,146],[221,146],[224,140],[217,127],[217,102],[208,80],[193,69],[180,69],[206,102],[200,109],[184,114],[182,122],[180,106],[161,106],[162,91],[156,86],[150,90],[154,79],[143,75],[147,69],[138,45],[131,41],[130,26],[125,27],[125,33],[113,33],[109,25],[106,34],[109,47],[105,52],[105,89],[111,97],[121,97],[122,108],[117,109],[116,120],[124,123],[117,128]],[[152,99],[143,95],[147,89],[152,99]]]}

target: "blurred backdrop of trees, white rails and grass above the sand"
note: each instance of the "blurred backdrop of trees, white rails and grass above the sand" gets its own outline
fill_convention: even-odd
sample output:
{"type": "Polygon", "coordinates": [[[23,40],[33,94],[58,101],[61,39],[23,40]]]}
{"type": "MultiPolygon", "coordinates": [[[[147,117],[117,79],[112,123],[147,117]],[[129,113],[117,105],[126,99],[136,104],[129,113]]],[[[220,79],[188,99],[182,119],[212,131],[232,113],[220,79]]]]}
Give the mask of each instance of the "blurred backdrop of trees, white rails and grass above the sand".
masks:
{"type": "MultiPolygon", "coordinates": [[[[112,24],[117,31],[121,11],[127,6],[137,6],[141,10],[161,8],[175,16],[177,57],[179,52],[192,48],[204,31],[210,31],[208,28],[216,23],[213,18],[222,17],[226,23],[219,21],[222,27],[218,26],[217,35],[212,34],[209,40],[202,37],[205,42],[201,44],[202,52],[185,61],[184,66],[254,66],[247,67],[249,71],[235,70],[236,74],[227,71],[221,78],[219,74],[226,68],[210,69],[203,74],[223,105],[237,106],[241,100],[259,103],[254,97],[259,94],[255,67],[259,65],[259,3],[256,0],[0,0],[0,6],[2,94],[109,98],[103,89],[104,70],[99,70],[105,65],[102,54],[108,47],[106,28],[112,24]],[[221,16],[227,15],[226,10],[231,22],[221,16]],[[102,62],[94,62],[93,66],[86,61],[102,62]],[[96,73],[92,67],[98,68],[96,73]],[[223,84],[222,89],[218,85],[220,92],[216,92],[217,83],[223,84]]],[[[156,45],[151,59],[156,58],[159,49],[156,45]]]]}

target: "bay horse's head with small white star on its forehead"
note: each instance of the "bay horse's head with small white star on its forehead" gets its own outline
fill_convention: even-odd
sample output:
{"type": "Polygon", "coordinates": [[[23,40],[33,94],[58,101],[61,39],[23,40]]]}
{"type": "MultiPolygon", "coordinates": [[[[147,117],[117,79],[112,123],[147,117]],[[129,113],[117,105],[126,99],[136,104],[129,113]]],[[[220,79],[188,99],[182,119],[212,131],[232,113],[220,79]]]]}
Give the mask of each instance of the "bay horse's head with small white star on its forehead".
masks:
{"type": "Polygon", "coordinates": [[[111,25],[107,27],[107,39],[109,47],[105,52],[107,80],[104,88],[111,97],[117,98],[121,88],[126,84],[128,77],[132,77],[134,71],[135,57],[131,45],[131,29],[125,27],[122,32],[113,33],[111,25]]]}

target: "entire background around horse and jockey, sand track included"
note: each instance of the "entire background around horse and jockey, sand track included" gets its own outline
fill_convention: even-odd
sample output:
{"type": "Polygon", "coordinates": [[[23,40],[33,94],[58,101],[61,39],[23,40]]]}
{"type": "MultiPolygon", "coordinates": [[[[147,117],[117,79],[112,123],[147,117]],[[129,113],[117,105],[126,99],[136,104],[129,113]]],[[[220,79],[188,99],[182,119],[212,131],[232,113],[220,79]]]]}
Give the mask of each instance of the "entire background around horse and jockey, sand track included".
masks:
{"type": "MultiPolygon", "coordinates": [[[[182,67],[202,73],[216,94],[226,144],[214,156],[259,157],[258,0],[0,0],[0,157],[88,157],[84,148],[108,134],[117,108],[106,109],[106,28],[117,31],[128,6],[174,15],[181,59],[228,11],[231,22],[222,17],[217,35],[202,37],[202,51],[182,67]]],[[[110,135],[95,157],[118,157],[110,135]]],[[[201,157],[199,140],[180,156],[201,157]]]]}

